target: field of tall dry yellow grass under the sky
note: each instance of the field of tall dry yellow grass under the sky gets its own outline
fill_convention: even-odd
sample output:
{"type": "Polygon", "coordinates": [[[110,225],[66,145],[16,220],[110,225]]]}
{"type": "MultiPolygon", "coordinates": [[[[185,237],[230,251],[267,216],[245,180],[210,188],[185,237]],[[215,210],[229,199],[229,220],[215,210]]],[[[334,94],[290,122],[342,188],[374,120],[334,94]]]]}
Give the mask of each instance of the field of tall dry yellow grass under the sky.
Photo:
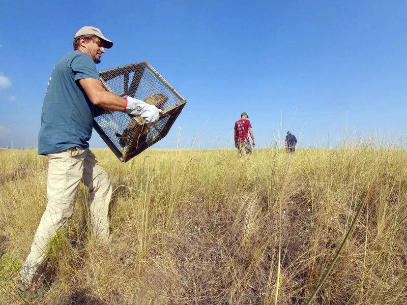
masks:
{"type": "MultiPolygon", "coordinates": [[[[234,150],[126,164],[93,151],[114,190],[110,246],[88,235],[81,186],[35,304],[305,304],[344,240],[312,304],[407,303],[405,150],[256,149],[244,164],[234,150]]],[[[0,173],[0,302],[20,304],[10,278],[45,209],[47,158],[2,149],[0,173]]]]}

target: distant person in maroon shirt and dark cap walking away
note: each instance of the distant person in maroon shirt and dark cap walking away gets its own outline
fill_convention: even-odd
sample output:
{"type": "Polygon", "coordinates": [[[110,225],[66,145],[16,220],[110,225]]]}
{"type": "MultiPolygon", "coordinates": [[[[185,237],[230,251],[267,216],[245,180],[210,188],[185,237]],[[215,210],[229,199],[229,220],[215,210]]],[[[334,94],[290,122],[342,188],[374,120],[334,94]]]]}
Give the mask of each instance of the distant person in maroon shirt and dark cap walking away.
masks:
{"type": "Polygon", "coordinates": [[[238,148],[239,157],[242,160],[244,151],[246,152],[247,159],[250,158],[250,155],[252,153],[252,148],[250,145],[248,134],[250,134],[250,137],[252,139],[253,147],[256,144],[254,143],[254,136],[251,130],[251,124],[250,121],[248,120],[249,116],[247,115],[246,112],[242,112],[240,117],[241,119],[235,123],[234,138],[235,138],[235,147],[238,148]]]}

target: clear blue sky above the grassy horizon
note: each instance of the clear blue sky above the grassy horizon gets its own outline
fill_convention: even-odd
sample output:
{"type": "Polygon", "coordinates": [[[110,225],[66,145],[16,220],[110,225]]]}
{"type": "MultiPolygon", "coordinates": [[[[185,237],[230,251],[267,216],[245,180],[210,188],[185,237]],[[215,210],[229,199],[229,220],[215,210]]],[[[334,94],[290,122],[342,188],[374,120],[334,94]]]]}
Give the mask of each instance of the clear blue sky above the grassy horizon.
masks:
{"type": "MultiPolygon", "coordinates": [[[[256,146],[402,144],[405,1],[0,0],[0,147],[36,147],[56,62],[83,25],[114,42],[98,70],[147,60],[188,100],[156,148],[232,148],[246,111],[256,146]],[[274,139],[274,140],[273,140],[274,139]]],[[[91,147],[106,147],[96,132],[91,147]]]]}

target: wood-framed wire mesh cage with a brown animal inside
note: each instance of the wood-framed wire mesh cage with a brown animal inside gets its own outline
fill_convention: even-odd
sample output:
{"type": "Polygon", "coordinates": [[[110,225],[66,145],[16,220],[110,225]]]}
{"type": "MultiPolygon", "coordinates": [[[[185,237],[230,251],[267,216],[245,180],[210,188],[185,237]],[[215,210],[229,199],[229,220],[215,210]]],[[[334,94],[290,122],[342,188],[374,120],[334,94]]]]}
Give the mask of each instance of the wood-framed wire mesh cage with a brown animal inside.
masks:
{"type": "Polygon", "coordinates": [[[163,110],[157,124],[147,128],[140,116],[95,108],[93,127],[123,162],[165,137],[187,102],[148,62],[103,70],[99,76],[111,93],[130,96],[163,110]]]}

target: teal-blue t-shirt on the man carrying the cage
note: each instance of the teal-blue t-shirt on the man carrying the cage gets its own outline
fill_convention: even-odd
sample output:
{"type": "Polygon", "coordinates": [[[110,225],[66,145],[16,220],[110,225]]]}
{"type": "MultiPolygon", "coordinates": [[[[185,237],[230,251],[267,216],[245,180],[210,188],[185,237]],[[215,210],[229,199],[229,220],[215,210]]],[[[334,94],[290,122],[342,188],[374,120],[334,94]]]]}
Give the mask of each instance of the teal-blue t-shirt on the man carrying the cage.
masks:
{"type": "Polygon", "coordinates": [[[56,64],[42,105],[38,154],[89,147],[94,105],[79,85],[82,78],[100,79],[88,54],[71,51],[56,64]]]}

